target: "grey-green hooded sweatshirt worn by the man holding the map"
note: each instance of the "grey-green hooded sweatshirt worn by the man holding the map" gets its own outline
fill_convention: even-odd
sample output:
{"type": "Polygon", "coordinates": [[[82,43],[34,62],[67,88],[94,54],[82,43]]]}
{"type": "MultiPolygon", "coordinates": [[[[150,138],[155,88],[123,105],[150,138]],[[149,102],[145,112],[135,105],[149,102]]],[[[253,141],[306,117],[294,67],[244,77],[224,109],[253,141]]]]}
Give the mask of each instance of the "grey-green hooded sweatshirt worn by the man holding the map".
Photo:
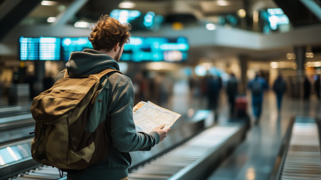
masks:
{"type": "MultiPolygon", "coordinates": [[[[72,52],[66,67],[74,76],[95,74],[104,68],[119,71],[119,65],[113,58],[92,49],[72,52]]],[[[63,78],[64,73],[64,71],[59,73],[56,81],[63,78]]],[[[120,73],[109,73],[108,79],[110,81],[106,117],[108,155],[90,167],[68,173],[67,177],[72,180],[125,178],[132,162],[129,152],[151,150],[160,141],[157,132],[149,134],[136,132],[133,120],[134,89],[130,78],[120,73]]]]}

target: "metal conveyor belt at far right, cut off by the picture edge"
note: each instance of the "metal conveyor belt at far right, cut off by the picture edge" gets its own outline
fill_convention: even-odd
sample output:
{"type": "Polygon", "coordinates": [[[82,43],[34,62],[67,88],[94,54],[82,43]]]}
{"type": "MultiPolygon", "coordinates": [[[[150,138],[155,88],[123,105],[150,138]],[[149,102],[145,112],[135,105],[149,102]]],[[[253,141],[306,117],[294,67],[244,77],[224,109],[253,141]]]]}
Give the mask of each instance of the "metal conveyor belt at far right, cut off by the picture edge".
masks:
{"type": "Polygon", "coordinates": [[[296,116],[289,124],[270,180],[321,180],[320,121],[296,116]]]}

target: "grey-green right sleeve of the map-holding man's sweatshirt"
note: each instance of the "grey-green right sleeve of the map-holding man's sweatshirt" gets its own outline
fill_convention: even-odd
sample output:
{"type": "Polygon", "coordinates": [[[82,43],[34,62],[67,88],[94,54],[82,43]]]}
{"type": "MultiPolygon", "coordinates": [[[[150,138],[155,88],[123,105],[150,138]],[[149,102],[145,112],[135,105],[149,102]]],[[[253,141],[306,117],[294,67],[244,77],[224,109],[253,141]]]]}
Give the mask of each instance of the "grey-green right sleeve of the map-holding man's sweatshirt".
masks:
{"type": "Polygon", "coordinates": [[[157,132],[136,132],[133,120],[134,88],[132,81],[118,84],[110,102],[110,135],[120,152],[151,150],[160,141],[157,132]]]}

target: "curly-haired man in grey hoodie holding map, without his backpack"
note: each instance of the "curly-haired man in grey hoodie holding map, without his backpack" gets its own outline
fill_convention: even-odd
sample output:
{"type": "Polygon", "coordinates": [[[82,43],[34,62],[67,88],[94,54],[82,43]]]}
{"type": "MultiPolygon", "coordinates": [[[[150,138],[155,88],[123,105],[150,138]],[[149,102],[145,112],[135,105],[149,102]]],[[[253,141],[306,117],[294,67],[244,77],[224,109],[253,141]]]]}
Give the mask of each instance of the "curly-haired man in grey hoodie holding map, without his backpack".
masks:
{"type": "MultiPolygon", "coordinates": [[[[92,49],[72,52],[66,64],[74,76],[95,74],[105,68],[119,70],[118,61],[124,44],[130,38],[129,24],[121,24],[108,15],[100,17],[90,34],[92,49]]],[[[56,81],[63,78],[61,72],[56,81]]],[[[68,180],[126,180],[131,164],[129,152],[151,150],[164,140],[170,128],[156,127],[149,134],[137,133],[133,120],[134,89],[132,81],[120,73],[109,73],[110,81],[106,117],[109,139],[108,155],[101,161],[82,170],[68,171],[68,180]]],[[[55,81],[55,82],[56,82],[55,81]]],[[[103,81],[103,79],[102,79],[103,81]]]]}

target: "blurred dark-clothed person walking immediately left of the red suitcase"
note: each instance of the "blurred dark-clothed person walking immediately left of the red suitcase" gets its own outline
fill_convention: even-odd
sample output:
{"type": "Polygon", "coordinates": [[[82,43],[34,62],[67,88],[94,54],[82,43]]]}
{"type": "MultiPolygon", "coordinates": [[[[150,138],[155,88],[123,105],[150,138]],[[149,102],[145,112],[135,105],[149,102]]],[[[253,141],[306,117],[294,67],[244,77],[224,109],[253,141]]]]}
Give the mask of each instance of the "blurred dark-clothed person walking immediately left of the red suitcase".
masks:
{"type": "Polygon", "coordinates": [[[235,96],[238,94],[238,82],[235,78],[235,74],[230,74],[230,79],[227,83],[226,93],[229,98],[230,104],[230,114],[233,115],[234,112],[234,104],[235,104],[235,96]]]}

